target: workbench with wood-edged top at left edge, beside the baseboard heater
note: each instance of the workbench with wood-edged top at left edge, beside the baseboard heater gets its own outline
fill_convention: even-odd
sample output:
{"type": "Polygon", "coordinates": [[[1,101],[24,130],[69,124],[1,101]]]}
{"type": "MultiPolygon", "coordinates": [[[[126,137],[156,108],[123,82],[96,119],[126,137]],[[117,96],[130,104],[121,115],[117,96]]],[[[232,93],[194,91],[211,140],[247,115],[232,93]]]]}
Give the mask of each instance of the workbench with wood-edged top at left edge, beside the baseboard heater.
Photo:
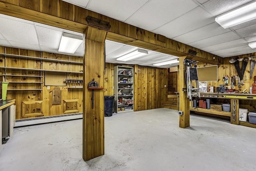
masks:
{"type": "MultiPolygon", "coordinates": [[[[0,103],[0,137],[1,137],[1,142],[0,142],[0,148],[2,146],[2,131],[7,130],[8,131],[8,136],[10,137],[13,132],[13,127],[14,127],[14,122],[15,122],[15,99],[12,100],[5,100],[2,103],[0,103]],[[6,110],[8,107],[10,107],[8,110],[6,110]],[[7,112],[7,113],[6,113],[7,112]],[[8,115],[8,116],[3,116],[3,115],[8,115]],[[2,120],[2,118],[8,118],[8,122],[2,120]],[[4,121],[4,122],[2,122],[4,121]]],[[[6,137],[4,137],[6,138],[6,137]]]]}

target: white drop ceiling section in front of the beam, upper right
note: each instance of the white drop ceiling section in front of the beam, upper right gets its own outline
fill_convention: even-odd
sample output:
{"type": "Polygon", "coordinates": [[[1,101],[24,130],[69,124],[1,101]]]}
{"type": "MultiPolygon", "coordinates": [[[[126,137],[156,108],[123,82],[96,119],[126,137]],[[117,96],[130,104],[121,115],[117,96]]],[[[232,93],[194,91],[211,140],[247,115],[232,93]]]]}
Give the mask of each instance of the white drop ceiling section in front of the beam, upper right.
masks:
{"type": "Polygon", "coordinates": [[[223,58],[256,52],[256,19],[222,28],[215,17],[255,0],[64,0],[223,58]]]}

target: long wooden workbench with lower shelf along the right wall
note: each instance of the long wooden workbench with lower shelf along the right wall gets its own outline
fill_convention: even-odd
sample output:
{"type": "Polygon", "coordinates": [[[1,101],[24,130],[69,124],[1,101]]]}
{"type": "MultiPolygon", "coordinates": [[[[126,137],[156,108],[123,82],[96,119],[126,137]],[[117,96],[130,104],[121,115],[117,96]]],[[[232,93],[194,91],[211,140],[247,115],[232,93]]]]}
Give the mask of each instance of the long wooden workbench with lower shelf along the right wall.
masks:
{"type": "MultiPolygon", "coordinates": [[[[232,124],[244,125],[244,126],[256,128],[256,124],[249,123],[247,121],[246,122],[239,121],[240,101],[244,101],[244,100],[256,101],[256,94],[200,93],[200,96],[201,96],[201,99],[214,98],[214,99],[228,100],[230,102],[230,112],[229,111],[217,111],[217,110],[213,110],[213,109],[203,109],[203,108],[199,108],[199,107],[197,107],[197,108],[190,107],[190,111],[199,112],[199,113],[209,113],[209,114],[220,115],[220,116],[227,116],[227,117],[230,117],[230,123],[232,123],[232,124]]],[[[192,106],[192,105],[190,105],[190,106],[192,106]]]]}

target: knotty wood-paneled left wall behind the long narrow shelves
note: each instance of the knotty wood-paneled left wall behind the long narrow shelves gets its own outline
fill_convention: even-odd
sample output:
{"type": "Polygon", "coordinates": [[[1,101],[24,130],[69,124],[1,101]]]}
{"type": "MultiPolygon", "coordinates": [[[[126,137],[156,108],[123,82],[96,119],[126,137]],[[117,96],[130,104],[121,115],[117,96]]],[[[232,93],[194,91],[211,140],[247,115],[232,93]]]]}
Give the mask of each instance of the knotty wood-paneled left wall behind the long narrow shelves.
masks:
{"type": "MultiPolygon", "coordinates": [[[[14,55],[23,55],[23,56],[32,56],[32,57],[41,57],[41,52],[33,51],[33,50],[24,50],[17,48],[8,48],[0,46],[0,53],[6,54],[14,54],[14,55]]],[[[60,71],[76,71],[82,72],[83,65],[78,64],[67,64],[61,62],[47,62],[31,59],[22,59],[22,58],[10,58],[6,57],[6,61],[4,56],[0,56],[2,62],[0,62],[0,66],[6,67],[15,67],[15,68],[30,68],[30,69],[45,69],[45,70],[60,70],[60,71]],[[42,67],[42,68],[41,68],[42,67]]],[[[76,56],[67,56],[61,54],[52,54],[47,52],[42,52],[42,58],[50,58],[50,59],[58,59],[58,60],[70,60],[76,62],[82,62],[83,58],[79,58],[76,56]]],[[[1,70],[4,73],[4,70],[1,70]]],[[[13,75],[41,75],[40,71],[26,71],[26,70],[8,70],[9,74],[13,75]]],[[[58,73],[51,73],[56,74],[58,73]]],[[[27,119],[32,117],[42,117],[42,116],[52,116],[52,115],[62,115],[65,111],[64,109],[64,101],[63,100],[71,100],[71,99],[79,99],[77,102],[77,109],[82,113],[82,89],[68,89],[68,87],[72,87],[72,85],[82,85],[82,84],[68,84],[66,86],[50,86],[50,90],[47,89],[47,86],[44,86],[44,72],[42,72],[42,91],[40,90],[10,90],[7,91],[6,99],[16,99],[16,119],[27,119]],[[60,87],[61,90],[61,104],[53,105],[52,104],[52,96],[53,90],[55,87],[60,87]],[[22,116],[22,101],[42,101],[42,109],[41,112],[43,115],[29,115],[27,117],[22,116]]],[[[67,74],[66,78],[72,79],[82,79],[82,74],[67,74]]],[[[6,82],[40,82],[40,78],[35,77],[16,77],[16,76],[6,76],[6,82]]],[[[64,82],[64,80],[60,80],[64,82]]],[[[8,89],[41,89],[41,85],[39,83],[9,83],[8,89]]],[[[70,114],[70,113],[65,113],[70,114]]]]}

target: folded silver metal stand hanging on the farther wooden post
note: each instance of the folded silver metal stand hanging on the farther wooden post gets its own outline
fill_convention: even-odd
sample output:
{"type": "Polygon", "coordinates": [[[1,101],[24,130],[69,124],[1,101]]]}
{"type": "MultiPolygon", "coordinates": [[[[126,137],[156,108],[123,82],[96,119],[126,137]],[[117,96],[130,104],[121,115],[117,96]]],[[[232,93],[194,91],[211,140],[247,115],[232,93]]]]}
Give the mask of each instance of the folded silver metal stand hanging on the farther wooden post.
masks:
{"type": "Polygon", "coordinates": [[[192,101],[192,95],[200,98],[196,63],[194,60],[184,60],[184,65],[186,65],[184,72],[186,75],[187,97],[190,101],[192,101]],[[192,68],[192,64],[194,64],[194,68],[192,68]],[[192,80],[196,81],[196,87],[192,87],[192,80]]]}

